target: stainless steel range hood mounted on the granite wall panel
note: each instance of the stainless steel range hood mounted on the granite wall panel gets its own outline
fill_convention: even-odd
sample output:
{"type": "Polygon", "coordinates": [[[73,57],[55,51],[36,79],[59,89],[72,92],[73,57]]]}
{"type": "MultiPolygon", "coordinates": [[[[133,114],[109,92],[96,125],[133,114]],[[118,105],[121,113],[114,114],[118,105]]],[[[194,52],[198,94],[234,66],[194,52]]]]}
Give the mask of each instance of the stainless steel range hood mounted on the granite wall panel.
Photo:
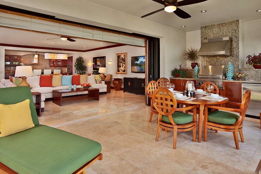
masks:
{"type": "Polygon", "coordinates": [[[231,56],[231,37],[205,39],[198,52],[199,56],[231,56]]]}

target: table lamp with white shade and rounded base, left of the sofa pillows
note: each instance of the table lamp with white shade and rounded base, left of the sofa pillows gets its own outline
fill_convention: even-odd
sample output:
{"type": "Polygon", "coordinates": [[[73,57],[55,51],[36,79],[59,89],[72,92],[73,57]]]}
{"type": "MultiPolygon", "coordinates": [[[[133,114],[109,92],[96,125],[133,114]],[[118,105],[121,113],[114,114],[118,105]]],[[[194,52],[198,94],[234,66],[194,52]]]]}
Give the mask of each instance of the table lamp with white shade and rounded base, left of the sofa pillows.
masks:
{"type": "Polygon", "coordinates": [[[32,66],[17,66],[14,77],[22,78],[22,83],[19,86],[28,86],[30,88],[30,85],[26,82],[26,76],[33,76],[32,66]]]}

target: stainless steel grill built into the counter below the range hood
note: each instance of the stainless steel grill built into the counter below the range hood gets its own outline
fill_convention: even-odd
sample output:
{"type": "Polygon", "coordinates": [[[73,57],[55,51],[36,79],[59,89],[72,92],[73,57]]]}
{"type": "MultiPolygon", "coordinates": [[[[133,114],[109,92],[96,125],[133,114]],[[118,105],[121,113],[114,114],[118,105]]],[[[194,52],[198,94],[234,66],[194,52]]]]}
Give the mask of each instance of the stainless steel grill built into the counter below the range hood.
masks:
{"type": "Polygon", "coordinates": [[[196,79],[196,87],[199,88],[206,81],[210,81],[218,86],[218,89],[223,89],[222,80],[225,79],[225,66],[202,66],[196,79]]]}

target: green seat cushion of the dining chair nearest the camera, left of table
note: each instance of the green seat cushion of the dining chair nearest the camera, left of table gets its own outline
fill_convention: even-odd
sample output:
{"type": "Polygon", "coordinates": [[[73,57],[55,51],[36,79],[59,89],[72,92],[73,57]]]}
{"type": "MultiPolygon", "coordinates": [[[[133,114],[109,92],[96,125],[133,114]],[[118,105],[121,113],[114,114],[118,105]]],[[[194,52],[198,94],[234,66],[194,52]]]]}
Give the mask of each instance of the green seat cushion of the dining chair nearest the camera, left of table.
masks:
{"type": "MultiPolygon", "coordinates": [[[[172,118],[176,124],[186,124],[193,121],[193,115],[178,111],[172,114],[172,118]]],[[[162,121],[171,123],[167,115],[162,115],[162,121]]]]}

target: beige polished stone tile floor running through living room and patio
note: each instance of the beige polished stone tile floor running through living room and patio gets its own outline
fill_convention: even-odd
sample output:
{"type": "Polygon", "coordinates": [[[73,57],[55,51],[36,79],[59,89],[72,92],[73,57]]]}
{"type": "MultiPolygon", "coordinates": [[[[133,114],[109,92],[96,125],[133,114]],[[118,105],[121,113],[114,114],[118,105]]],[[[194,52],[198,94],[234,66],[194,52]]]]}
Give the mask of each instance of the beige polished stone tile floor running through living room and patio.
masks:
{"type": "MultiPolygon", "coordinates": [[[[112,90],[100,100],[69,102],[58,106],[45,102],[39,117],[46,124],[102,144],[103,160],[86,173],[254,173],[261,158],[260,123],[244,121],[244,140],[235,149],[233,134],[208,131],[208,141],[192,141],[192,131],[178,132],[173,149],[173,132],[161,131],[155,141],[157,115],[148,122],[150,106],[143,95],[112,90]]],[[[203,138],[203,135],[202,135],[203,138]]]]}

